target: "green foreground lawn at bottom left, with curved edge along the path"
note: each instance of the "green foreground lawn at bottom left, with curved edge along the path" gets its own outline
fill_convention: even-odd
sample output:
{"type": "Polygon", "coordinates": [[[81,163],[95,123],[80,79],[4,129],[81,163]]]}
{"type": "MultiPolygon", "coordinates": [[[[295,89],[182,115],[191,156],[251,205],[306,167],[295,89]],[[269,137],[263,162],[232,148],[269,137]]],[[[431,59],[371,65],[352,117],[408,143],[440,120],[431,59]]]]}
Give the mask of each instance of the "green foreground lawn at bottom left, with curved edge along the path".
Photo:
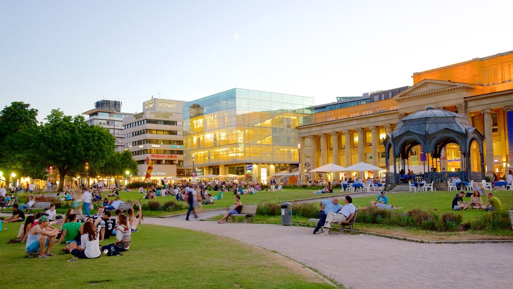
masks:
{"type": "Polygon", "coordinates": [[[25,244],[6,244],[19,223],[3,225],[2,288],[332,288],[284,257],[203,232],[142,224],[124,256],[72,263],[71,255],[25,258],[25,244]]]}

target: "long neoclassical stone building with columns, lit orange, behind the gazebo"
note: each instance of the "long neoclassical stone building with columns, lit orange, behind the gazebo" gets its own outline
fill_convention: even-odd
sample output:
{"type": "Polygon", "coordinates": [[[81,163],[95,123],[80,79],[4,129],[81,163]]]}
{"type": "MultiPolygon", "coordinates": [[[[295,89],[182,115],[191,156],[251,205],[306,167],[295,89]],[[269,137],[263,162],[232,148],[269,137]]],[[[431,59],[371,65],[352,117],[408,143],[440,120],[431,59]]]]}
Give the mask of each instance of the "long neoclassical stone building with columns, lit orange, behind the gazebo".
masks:
{"type": "MultiPolygon", "coordinates": [[[[399,120],[430,105],[467,117],[485,136],[488,175],[504,175],[513,166],[513,51],[415,73],[412,78],[413,85],[392,99],[315,113],[313,123],[297,127],[302,179],[307,179],[305,171],[330,162],[348,167],[364,161],[386,170],[386,135],[399,120]]],[[[470,150],[470,169],[480,171],[479,149],[470,150]]],[[[408,158],[408,167],[415,172],[425,167],[421,153],[416,148],[408,158]]],[[[461,168],[458,145],[448,144],[435,167],[438,171],[461,168]]],[[[378,176],[378,171],[359,174],[378,176]]],[[[320,178],[319,174],[311,177],[320,178]]]]}

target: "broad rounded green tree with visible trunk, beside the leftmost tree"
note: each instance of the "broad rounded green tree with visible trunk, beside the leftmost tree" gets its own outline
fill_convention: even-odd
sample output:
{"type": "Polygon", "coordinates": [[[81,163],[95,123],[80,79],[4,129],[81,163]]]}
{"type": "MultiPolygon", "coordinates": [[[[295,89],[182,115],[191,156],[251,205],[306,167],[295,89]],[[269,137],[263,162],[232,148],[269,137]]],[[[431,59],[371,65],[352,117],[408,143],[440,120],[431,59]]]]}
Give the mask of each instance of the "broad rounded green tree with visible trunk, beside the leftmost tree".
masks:
{"type": "Polygon", "coordinates": [[[40,134],[40,151],[46,166],[58,169],[62,191],[68,173],[83,171],[86,162],[102,162],[114,151],[114,136],[105,128],[88,125],[83,116],[66,116],[61,110],[52,110],[46,117],[40,134]]]}

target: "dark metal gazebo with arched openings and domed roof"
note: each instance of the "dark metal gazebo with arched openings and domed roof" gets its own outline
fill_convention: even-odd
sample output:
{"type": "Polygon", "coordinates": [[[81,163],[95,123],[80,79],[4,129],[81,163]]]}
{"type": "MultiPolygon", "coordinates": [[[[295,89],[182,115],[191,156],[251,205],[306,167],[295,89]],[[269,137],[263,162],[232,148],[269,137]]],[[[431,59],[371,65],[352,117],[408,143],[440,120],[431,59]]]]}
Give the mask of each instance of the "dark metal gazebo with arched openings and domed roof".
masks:
{"type": "Polygon", "coordinates": [[[417,176],[420,178],[418,180],[445,182],[448,178],[455,176],[464,181],[481,180],[484,178],[483,139],[483,134],[468,124],[467,117],[427,106],[425,111],[418,111],[401,119],[397,123],[396,130],[386,136],[384,146],[388,169],[387,183],[400,182],[402,176],[399,171],[406,169],[406,161],[409,159],[411,150],[416,146],[421,147],[420,157],[424,162],[424,173],[417,176]],[[473,142],[476,142],[479,148],[480,172],[471,172],[470,151],[473,142]],[[457,172],[437,172],[437,159],[442,157],[446,146],[451,143],[460,148],[461,168],[457,172]],[[393,173],[390,156],[393,157],[393,173]],[[427,171],[425,170],[426,161],[427,171]]]}

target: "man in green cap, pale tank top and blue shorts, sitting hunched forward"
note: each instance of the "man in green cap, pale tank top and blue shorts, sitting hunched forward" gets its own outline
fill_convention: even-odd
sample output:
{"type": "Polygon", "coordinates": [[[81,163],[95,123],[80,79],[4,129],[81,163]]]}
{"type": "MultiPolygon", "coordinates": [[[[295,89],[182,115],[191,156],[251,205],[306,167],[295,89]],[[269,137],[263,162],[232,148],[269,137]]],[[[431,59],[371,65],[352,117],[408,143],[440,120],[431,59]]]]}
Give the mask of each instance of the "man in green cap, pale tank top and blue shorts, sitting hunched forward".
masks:
{"type": "Polygon", "coordinates": [[[38,224],[29,230],[27,236],[27,243],[25,251],[29,254],[39,253],[39,258],[48,258],[49,256],[55,256],[50,250],[55,243],[55,238],[58,234],[57,230],[46,230],[50,221],[46,215],[41,216],[38,219],[38,224]],[[45,250],[46,248],[46,250],[45,250]]]}

